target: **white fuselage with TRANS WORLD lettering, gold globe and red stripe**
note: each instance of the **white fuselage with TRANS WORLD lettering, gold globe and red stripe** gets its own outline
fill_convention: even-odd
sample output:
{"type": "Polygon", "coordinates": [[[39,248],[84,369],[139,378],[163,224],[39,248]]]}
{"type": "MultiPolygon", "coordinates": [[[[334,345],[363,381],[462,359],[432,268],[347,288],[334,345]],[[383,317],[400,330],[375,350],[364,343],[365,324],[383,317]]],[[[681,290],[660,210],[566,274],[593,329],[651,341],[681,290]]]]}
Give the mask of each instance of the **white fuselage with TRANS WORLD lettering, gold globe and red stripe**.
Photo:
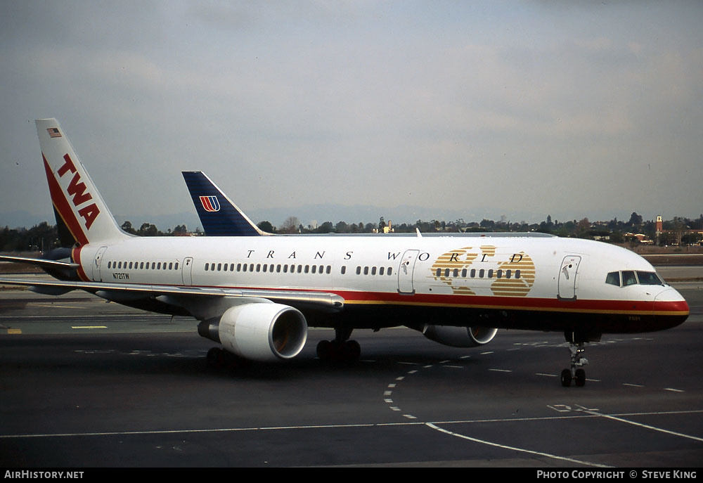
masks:
{"type": "Polygon", "coordinates": [[[633,252],[556,237],[129,238],[84,245],[74,259],[87,281],[331,292],[347,309],[500,309],[594,320],[620,314],[630,319],[626,331],[641,316],[681,316],[685,305],[669,285],[606,283],[611,272],[654,272],[633,252]]]}

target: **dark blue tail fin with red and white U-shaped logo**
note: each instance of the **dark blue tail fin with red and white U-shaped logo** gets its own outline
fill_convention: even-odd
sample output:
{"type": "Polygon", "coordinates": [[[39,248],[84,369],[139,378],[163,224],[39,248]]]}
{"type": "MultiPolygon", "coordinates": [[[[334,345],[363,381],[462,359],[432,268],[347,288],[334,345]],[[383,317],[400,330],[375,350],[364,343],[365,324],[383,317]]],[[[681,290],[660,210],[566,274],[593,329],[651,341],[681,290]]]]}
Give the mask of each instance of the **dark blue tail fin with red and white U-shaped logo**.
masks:
{"type": "Polygon", "coordinates": [[[271,235],[258,226],[235,205],[203,172],[183,171],[195,211],[207,236],[271,235]]]}

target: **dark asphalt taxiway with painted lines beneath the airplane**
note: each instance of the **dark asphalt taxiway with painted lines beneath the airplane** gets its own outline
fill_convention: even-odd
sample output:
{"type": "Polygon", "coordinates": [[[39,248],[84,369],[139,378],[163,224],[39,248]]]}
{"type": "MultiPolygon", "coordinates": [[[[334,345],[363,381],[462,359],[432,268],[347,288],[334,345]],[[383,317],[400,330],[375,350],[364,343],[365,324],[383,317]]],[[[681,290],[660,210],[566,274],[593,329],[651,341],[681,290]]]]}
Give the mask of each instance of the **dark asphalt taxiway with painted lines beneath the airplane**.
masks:
{"type": "Polygon", "coordinates": [[[703,290],[678,288],[688,321],[589,344],[586,386],[568,388],[560,334],[454,349],[359,330],[361,361],[340,366],[311,330],[290,363],[215,370],[191,319],[5,292],[0,465],[697,466],[703,290]]]}

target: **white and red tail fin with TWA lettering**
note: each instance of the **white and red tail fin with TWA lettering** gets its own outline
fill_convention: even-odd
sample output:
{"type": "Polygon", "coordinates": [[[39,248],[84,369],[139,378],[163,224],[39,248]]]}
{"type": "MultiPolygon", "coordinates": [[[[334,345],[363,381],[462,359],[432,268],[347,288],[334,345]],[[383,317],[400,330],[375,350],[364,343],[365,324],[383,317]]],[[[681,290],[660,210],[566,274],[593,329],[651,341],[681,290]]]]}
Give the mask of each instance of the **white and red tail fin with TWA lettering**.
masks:
{"type": "Polygon", "coordinates": [[[117,226],[58,121],[40,119],[36,124],[58,225],[79,245],[129,237],[117,226]]]}

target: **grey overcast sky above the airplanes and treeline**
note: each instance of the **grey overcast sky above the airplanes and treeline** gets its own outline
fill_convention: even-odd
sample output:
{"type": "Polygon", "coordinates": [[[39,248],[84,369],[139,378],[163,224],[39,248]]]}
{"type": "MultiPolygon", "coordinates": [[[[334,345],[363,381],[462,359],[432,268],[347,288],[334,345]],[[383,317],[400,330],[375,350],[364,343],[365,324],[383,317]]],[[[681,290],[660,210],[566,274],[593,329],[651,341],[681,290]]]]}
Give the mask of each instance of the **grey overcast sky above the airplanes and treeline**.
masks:
{"type": "Polygon", "coordinates": [[[702,25],[701,1],[1,0],[0,213],[52,213],[56,117],[115,214],[193,212],[202,170],[262,218],[698,217],[702,25]]]}

